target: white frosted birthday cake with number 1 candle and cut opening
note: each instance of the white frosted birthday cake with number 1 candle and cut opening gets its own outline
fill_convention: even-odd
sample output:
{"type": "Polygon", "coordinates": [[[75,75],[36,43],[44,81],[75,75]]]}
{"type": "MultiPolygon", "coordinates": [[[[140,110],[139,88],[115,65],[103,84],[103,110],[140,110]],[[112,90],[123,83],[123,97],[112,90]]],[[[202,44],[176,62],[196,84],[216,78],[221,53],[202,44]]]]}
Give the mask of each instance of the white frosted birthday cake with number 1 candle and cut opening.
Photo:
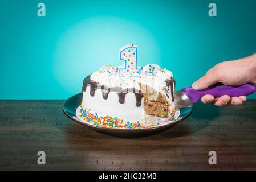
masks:
{"type": "Polygon", "coordinates": [[[175,122],[175,81],[156,64],[137,66],[137,46],[120,49],[121,67],[104,65],[83,81],[83,100],[76,115],[100,127],[143,129],[175,122]]]}

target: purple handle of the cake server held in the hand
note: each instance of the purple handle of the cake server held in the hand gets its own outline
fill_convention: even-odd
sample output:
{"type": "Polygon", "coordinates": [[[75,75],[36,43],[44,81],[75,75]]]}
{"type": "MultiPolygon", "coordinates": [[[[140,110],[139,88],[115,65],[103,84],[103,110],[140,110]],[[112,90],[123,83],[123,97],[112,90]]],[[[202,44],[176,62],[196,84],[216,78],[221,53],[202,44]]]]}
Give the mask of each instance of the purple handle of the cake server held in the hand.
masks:
{"type": "Polygon", "coordinates": [[[192,102],[197,102],[202,96],[210,94],[214,97],[221,97],[228,95],[230,97],[235,96],[247,96],[256,91],[256,86],[251,84],[245,84],[240,86],[228,86],[223,84],[215,84],[204,90],[194,90],[190,86],[189,88],[181,89],[182,92],[188,96],[192,102]]]}

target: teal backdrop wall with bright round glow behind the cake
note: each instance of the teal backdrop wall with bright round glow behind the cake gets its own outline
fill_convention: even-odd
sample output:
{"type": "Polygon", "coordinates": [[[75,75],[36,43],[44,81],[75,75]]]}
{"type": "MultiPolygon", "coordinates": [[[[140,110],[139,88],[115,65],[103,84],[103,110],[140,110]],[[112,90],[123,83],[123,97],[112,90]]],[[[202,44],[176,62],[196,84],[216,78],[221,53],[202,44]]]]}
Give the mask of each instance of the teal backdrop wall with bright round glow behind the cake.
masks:
{"type": "MultiPolygon", "coordinates": [[[[65,99],[119,48],[170,69],[177,89],[220,61],[256,52],[256,1],[14,1],[0,3],[1,99],[65,99]],[[46,17],[37,16],[39,2],[46,17]],[[217,17],[208,16],[210,2],[217,17]]],[[[256,94],[250,98],[256,98],[256,94]]]]}

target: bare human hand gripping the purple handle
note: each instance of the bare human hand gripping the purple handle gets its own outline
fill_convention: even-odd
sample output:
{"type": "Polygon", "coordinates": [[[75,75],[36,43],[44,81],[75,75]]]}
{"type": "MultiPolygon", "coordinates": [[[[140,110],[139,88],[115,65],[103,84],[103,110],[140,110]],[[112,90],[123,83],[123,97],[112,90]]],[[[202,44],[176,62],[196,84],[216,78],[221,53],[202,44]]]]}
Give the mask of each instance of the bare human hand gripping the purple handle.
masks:
{"type": "MultiPolygon", "coordinates": [[[[217,82],[230,86],[246,83],[256,85],[256,54],[240,60],[225,61],[217,64],[212,69],[209,69],[205,76],[194,82],[192,88],[202,90],[217,82]]],[[[204,104],[212,103],[217,106],[239,105],[246,101],[246,96],[230,97],[224,95],[214,98],[212,95],[205,95],[201,98],[201,101],[204,104]]]]}

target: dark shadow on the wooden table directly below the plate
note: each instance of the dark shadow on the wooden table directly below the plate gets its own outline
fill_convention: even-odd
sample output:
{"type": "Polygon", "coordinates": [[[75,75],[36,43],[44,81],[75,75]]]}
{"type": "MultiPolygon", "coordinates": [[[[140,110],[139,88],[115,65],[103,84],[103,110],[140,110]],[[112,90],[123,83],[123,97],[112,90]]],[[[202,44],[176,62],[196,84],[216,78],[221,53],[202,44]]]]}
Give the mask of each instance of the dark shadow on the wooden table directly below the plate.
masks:
{"type": "Polygon", "coordinates": [[[157,155],[157,151],[162,150],[163,146],[166,150],[174,150],[177,147],[175,138],[189,134],[189,128],[185,125],[179,125],[179,123],[160,133],[133,138],[103,134],[74,123],[66,127],[64,137],[68,146],[76,148],[76,150],[87,151],[88,155],[92,153],[94,155],[103,153],[105,155],[123,155],[125,152],[133,151],[147,151],[147,154],[156,152],[157,155]]]}

